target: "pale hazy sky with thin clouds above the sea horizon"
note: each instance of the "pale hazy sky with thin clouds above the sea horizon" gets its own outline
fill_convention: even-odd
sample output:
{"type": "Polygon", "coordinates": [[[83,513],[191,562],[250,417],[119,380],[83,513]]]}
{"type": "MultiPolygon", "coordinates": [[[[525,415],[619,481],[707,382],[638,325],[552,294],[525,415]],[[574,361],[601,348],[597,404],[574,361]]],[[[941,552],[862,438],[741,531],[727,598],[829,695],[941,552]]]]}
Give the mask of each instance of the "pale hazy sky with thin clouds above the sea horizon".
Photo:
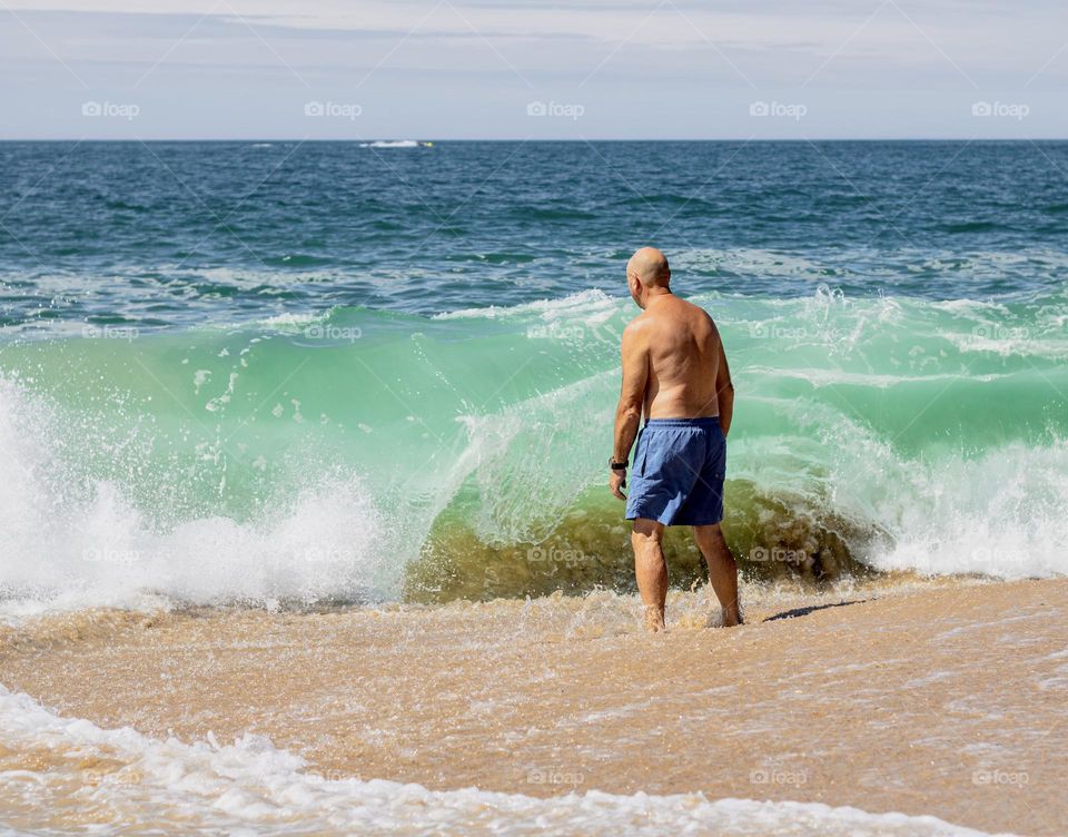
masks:
{"type": "Polygon", "coordinates": [[[0,0],[0,139],[1068,138],[1062,0],[0,0]]]}

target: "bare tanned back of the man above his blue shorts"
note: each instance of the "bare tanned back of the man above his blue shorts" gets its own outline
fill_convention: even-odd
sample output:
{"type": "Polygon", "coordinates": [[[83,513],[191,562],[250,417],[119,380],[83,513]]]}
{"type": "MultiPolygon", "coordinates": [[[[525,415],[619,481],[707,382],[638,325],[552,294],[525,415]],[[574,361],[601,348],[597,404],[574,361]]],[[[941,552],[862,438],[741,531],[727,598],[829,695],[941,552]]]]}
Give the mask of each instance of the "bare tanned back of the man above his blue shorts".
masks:
{"type": "Polygon", "coordinates": [[[708,313],[666,294],[627,331],[633,331],[636,353],[646,358],[646,420],[719,415],[716,393],[726,370],[720,333],[708,313]]]}

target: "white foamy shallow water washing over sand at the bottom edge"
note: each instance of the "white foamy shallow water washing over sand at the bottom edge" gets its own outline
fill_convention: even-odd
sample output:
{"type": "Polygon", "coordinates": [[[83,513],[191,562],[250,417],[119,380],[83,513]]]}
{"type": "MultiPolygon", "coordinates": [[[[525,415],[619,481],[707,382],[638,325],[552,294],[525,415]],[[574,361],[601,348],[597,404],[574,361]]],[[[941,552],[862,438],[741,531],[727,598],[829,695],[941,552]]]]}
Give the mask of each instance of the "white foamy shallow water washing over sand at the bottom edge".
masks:
{"type": "Polygon", "coordinates": [[[246,735],[157,740],[67,719],[0,687],[0,824],[13,834],[981,835],[934,817],[703,795],[548,799],[305,772],[246,735]]]}

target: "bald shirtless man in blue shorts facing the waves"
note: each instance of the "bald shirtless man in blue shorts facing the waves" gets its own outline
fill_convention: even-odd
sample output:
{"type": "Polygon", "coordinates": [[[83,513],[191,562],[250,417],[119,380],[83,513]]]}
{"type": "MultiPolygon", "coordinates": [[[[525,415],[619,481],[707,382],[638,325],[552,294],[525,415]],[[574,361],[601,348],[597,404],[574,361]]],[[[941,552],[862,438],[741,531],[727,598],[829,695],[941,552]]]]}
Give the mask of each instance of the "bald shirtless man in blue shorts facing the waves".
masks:
{"type": "Polygon", "coordinates": [[[720,531],[734,387],[712,317],[672,294],[670,283],[668,259],[654,247],[643,247],[626,263],[626,284],[642,314],[623,332],[623,390],[609,486],[626,500],[626,519],[634,521],[631,544],[645,627],[664,628],[662,538],[669,525],[693,526],[723,624],[735,626],[742,621],[738,567],[720,531]],[[645,427],[637,434],[643,411],[645,427]],[[626,498],[621,489],[635,435],[626,498]]]}

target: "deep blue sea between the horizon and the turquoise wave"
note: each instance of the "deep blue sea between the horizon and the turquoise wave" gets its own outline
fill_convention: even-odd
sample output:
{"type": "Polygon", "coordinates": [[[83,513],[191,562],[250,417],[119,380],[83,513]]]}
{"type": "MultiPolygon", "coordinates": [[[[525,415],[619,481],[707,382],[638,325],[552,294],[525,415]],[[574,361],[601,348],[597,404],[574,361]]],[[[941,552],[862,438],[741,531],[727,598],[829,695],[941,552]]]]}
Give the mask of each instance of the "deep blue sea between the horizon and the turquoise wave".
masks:
{"type": "Polygon", "coordinates": [[[1066,225],[1062,142],[8,142],[0,322],[622,294],[645,244],[688,293],[990,298],[1059,287],[1066,225]]]}

